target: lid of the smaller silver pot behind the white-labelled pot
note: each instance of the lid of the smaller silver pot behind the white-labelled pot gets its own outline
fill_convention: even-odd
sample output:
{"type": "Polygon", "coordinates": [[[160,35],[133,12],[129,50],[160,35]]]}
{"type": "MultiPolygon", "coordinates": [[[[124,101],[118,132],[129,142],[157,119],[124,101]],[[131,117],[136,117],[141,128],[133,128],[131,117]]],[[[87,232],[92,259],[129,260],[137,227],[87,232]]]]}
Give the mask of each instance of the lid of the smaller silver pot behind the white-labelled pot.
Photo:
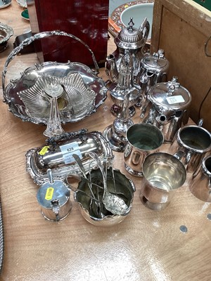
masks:
{"type": "Polygon", "coordinates": [[[169,61],[164,56],[162,49],[158,50],[158,53],[153,55],[146,55],[141,60],[141,66],[150,72],[165,71],[169,67],[169,61]]]}

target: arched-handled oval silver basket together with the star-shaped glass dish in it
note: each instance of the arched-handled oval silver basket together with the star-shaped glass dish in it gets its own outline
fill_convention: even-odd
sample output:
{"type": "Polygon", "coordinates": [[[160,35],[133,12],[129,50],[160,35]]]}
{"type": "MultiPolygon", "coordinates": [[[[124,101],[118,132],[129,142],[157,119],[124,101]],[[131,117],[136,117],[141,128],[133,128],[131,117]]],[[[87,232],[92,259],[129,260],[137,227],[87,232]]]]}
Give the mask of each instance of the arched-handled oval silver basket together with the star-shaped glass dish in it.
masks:
{"type": "Polygon", "coordinates": [[[63,85],[63,98],[58,100],[62,124],[78,122],[91,115],[107,98],[106,82],[98,77],[98,65],[94,53],[84,41],[66,32],[52,31],[35,34],[25,39],[8,55],[2,72],[2,88],[4,102],[8,104],[9,110],[15,117],[19,117],[24,122],[47,124],[50,103],[42,95],[42,89],[49,80],[63,85]],[[28,67],[18,79],[11,80],[8,85],[5,85],[7,67],[15,55],[33,41],[50,36],[71,37],[84,44],[93,58],[94,70],[82,63],[46,62],[28,67]]]}

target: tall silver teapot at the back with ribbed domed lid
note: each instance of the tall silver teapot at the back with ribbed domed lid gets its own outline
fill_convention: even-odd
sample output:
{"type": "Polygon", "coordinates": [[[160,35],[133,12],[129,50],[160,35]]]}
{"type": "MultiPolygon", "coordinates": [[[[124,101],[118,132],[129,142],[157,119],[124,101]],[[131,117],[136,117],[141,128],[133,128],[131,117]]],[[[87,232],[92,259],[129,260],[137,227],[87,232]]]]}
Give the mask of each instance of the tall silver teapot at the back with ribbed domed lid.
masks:
{"type": "Polygon", "coordinates": [[[134,78],[140,71],[141,59],[143,58],[142,48],[146,44],[150,25],[146,18],[139,29],[134,27],[133,18],[130,18],[128,25],[115,37],[114,41],[117,48],[114,53],[106,58],[106,74],[112,83],[117,83],[120,63],[126,49],[129,50],[129,54],[133,57],[134,78]]]}

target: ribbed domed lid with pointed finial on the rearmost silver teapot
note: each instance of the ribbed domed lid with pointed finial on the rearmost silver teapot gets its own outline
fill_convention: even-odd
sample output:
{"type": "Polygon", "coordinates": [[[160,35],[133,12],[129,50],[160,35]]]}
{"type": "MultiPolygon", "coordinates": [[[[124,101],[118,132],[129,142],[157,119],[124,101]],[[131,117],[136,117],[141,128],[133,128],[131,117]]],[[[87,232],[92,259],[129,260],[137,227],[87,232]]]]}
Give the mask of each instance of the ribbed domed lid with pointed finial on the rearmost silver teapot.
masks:
{"type": "Polygon", "coordinates": [[[141,29],[134,27],[133,18],[130,18],[128,25],[128,27],[124,27],[117,37],[115,37],[115,44],[120,48],[141,48],[146,42],[143,32],[141,29]]]}

